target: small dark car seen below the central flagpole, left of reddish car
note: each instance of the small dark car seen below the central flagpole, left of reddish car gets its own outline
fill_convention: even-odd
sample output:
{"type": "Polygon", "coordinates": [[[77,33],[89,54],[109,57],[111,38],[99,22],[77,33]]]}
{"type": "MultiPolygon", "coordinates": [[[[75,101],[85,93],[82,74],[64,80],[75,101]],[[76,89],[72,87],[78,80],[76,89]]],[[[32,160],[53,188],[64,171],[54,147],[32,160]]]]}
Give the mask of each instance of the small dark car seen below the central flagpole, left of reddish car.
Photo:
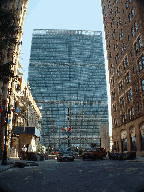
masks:
{"type": "Polygon", "coordinates": [[[74,161],[74,155],[72,151],[60,151],[57,154],[57,161],[74,161]]]}

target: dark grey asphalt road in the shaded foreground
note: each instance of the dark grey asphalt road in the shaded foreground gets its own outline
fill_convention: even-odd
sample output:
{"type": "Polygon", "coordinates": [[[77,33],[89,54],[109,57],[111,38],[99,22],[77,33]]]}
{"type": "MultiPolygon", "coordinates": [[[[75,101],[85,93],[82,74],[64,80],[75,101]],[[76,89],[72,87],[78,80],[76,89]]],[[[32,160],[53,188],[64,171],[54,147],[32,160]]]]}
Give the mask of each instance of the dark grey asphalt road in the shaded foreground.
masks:
{"type": "Polygon", "coordinates": [[[7,192],[139,192],[144,191],[144,162],[53,159],[1,172],[0,186],[7,192]]]}

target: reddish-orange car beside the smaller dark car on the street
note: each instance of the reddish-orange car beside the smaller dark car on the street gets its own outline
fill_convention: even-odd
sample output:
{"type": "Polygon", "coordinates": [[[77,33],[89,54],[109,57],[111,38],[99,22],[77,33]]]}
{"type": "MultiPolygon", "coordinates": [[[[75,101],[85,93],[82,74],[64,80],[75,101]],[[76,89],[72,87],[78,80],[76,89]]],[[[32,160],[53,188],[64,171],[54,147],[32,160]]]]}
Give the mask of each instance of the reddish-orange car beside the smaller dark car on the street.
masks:
{"type": "Polygon", "coordinates": [[[106,157],[106,150],[105,148],[89,148],[86,152],[82,153],[83,161],[86,159],[103,159],[106,157]]]}

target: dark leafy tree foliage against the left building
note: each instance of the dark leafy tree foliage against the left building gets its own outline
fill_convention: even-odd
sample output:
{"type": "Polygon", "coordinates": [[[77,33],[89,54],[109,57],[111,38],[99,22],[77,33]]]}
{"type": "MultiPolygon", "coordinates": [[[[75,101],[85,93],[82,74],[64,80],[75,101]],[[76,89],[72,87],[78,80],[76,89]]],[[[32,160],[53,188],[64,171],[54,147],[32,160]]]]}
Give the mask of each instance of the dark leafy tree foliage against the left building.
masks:
{"type": "Polygon", "coordinates": [[[10,77],[14,77],[14,72],[11,70],[14,63],[13,61],[4,63],[4,57],[6,53],[13,55],[15,45],[18,43],[17,35],[20,28],[15,25],[15,21],[16,15],[11,10],[0,7],[0,81],[3,82],[8,82],[10,77]]]}

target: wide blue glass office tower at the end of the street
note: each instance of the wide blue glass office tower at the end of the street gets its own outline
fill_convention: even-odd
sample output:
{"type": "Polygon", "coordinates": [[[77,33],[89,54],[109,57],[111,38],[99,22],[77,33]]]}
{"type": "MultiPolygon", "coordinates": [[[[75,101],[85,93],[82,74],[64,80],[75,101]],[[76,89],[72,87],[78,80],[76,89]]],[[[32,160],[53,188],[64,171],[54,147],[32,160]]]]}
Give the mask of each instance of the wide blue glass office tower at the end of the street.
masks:
{"type": "Polygon", "coordinates": [[[66,147],[62,126],[70,125],[71,147],[99,144],[99,127],[108,124],[101,32],[34,30],[28,75],[32,95],[42,106],[43,145],[66,147]]]}

